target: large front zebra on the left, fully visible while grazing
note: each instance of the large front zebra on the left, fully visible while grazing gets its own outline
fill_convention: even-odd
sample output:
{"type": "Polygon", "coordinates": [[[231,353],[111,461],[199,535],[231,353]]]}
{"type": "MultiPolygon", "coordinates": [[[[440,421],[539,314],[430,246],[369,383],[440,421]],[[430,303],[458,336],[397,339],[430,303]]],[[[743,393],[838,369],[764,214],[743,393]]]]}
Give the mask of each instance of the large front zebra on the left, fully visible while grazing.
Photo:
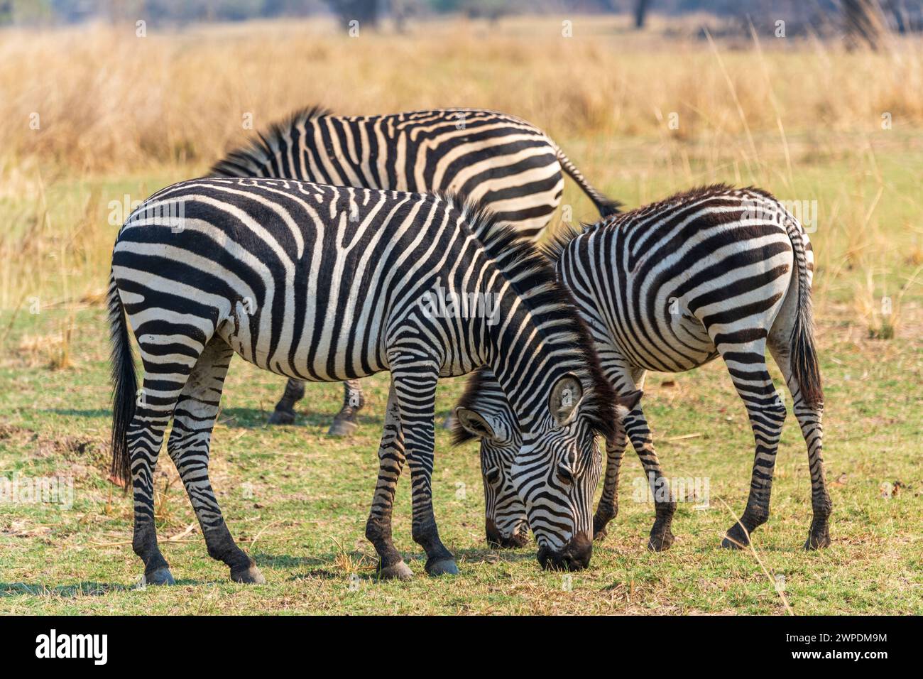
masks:
{"type": "Polygon", "coordinates": [[[147,582],[173,582],[157,546],[152,487],[171,417],[167,452],[210,556],[228,564],[235,581],[263,581],[234,543],[208,475],[211,430],[234,353],[314,382],[390,370],[366,524],[385,577],[410,576],[390,528],[404,459],[426,572],[457,573],[432,506],[436,384],[489,366],[522,431],[512,474],[531,493],[525,504],[540,561],[589,562],[590,505],[601,473],[594,436],[613,428],[614,393],[554,271],[489,212],[434,195],[291,180],[186,181],[146,200],[122,227],[108,307],[113,471],[132,481],[132,545],[147,582]],[[437,290],[482,306],[441,313],[437,290]],[[137,399],[129,325],[145,373],[137,399]],[[558,483],[556,473],[567,482],[558,483]]]}

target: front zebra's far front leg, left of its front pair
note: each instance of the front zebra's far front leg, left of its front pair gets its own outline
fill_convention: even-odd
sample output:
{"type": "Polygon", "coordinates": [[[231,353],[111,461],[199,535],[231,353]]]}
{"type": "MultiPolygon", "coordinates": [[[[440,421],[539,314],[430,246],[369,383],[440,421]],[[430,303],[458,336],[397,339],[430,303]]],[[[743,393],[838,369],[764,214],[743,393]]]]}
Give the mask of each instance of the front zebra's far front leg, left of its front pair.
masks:
{"type": "Polygon", "coordinates": [[[392,380],[388,392],[388,406],[385,408],[385,426],[378,447],[378,481],[375,485],[375,496],[372,498],[372,509],[366,522],[366,538],[375,545],[375,551],[378,552],[379,576],[399,580],[408,580],[414,576],[391,540],[394,491],[398,479],[401,478],[404,459],[401,414],[392,380]]]}

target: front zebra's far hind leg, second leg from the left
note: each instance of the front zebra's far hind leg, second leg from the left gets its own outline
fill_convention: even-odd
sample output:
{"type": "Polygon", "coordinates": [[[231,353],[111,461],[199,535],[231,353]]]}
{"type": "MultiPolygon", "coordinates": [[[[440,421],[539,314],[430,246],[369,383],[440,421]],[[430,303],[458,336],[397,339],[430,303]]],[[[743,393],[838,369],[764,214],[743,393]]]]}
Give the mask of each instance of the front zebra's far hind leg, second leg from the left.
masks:
{"type": "Polygon", "coordinates": [[[210,557],[228,564],[235,582],[263,583],[257,565],[234,543],[209,480],[211,430],[233,356],[234,350],[219,337],[205,347],[176,404],[167,452],[186,486],[210,557]]]}

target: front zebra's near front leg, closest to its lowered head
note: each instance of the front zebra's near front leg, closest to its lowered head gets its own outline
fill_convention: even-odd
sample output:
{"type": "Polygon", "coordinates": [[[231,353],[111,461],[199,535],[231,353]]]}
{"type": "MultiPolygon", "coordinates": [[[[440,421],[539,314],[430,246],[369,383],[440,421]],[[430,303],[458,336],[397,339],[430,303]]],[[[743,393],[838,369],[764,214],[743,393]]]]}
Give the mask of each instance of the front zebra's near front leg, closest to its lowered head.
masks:
{"type": "Polygon", "coordinates": [[[406,370],[395,369],[392,362],[391,383],[401,413],[401,429],[407,442],[414,502],[414,542],[426,551],[426,573],[430,576],[457,575],[455,557],[439,540],[433,514],[434,418],[438,367],[415,362],[406,370]]]}

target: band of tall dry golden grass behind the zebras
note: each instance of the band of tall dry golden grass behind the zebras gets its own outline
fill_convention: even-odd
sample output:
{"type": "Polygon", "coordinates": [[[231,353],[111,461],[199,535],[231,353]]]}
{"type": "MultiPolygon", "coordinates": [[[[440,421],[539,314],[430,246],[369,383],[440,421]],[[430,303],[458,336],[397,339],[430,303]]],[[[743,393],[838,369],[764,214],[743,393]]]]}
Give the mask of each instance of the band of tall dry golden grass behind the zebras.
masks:
{"type": "MultiPolygon", "coordinates": [[[[78,170],[209,163],[295,106],[346,114],[485,106],[563,136],[775,135],[923,123],[923,48],[880,53],[762,36],[762,55],[657,41],[620,19],[416,25],[340,34],[318,21],[202,27],[0,31],[0,150],[78,170]],[[732,96],[731,92],[736,94],[732,96]],[[30,128],[38,114],[40,129],[30,128]]],[[[7,161],[6,168],[9,168],[7,161]]]]}

